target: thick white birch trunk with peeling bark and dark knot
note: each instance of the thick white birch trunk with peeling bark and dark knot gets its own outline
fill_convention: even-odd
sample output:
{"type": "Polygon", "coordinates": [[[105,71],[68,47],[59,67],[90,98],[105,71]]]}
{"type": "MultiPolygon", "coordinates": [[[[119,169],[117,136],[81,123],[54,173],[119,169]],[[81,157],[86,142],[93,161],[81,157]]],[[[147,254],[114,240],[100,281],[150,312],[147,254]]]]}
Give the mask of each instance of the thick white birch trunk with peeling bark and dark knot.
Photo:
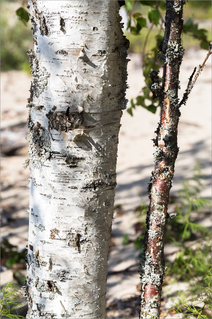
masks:
{"type": "Polygon", "coordinates": [[[118,1],[29,1],[27,318],[105,318],[125,108],[118,1]]]}

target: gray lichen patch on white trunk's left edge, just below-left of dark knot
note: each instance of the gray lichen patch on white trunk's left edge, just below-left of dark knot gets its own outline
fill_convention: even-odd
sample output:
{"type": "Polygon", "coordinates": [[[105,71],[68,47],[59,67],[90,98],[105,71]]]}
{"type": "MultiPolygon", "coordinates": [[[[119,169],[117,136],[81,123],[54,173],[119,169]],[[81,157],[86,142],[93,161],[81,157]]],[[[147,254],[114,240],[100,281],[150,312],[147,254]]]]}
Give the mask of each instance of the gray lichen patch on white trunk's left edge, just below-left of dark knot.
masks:
{"type": "Polygon", "coordinates": [[[46,130],[34,128],[29,133],[29,154],[30,162],[33,168],[41,168],[50,158],[50,139],[46,130]]]}

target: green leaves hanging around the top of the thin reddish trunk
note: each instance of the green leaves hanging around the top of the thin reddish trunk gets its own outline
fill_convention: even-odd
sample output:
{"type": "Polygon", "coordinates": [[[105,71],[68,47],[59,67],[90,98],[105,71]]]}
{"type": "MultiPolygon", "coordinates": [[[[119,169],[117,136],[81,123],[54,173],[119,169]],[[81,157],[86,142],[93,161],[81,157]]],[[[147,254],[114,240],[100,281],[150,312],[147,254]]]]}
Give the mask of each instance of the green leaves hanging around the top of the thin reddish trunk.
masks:
{"type": "MultiPolygon", "coordinates": [[[[193,3],[193,1],[191,1],[193,3]]],[[[199,6],[201,7],[202,1],[195,1],[198,2],[199,6]]],[[[208,1],[209,3],[210,1],[208,1]]],[[[188,4],[190,1],[188,2],[188,4]]],[[[195,4],[192,4],[195,6],[195,4]]],[[[208,4],[204,4],[205,6],[208,4]]],[[[189,5],[188,5],[189,6],[189,5]]],[[[211,2],[210,2],[211,6],[211,2]]],[[[151,26],[146,32],[145,39],[142,38],[142,42],[140,43],[140,46],[143,47],[142,52],[142,68],[143,68],[143,75],[145,78],[145,87],[142,88],[142,94],[138,96],[134,100],[131,100],[131,107],[127,108],[127,112],[132,116],[133,115],[133,108],[135,109],[136,106],[142,106],[146,110],[156,113],[156,109],[158,106],[160,106],[158,99],[153,99],[152,93],[149,92],[149,73],[152,70],[157,70],[162,66],[162,62],[159,60],[159,54],[158,54],[158,47],[163,40],[163,25],[164,25],[164,16],[163,13],[160,10],[164,10],[166,8],[166,1],[125,1],[125,9],[128,13],[128,23],[127,23],[127,29],[130,30],[131,34],[133,35],[141,35],[142,33],[145,33],[143,30],[143,27],[146,27],[146,19],[142,16],[142,14],[138,11],[145,12],[144,8],[149,7],[149,10],[147,13],[147,19],[151,23],[151,26]],[[160,28],[158,28],[160,26],[160,28]],[[154,30],[154,40],[152,37],[150,37],[150,33],[153,30],[153,27],[157,27],[157,31],[154,30]],[[148,45],[150,38],[150,42],[152,44],[152,48],[148,48],[147,53],[145,53],[146,46],[148,45]]],[[[183,29],[184,34],[189,34],[194,39],[197,39],[200,43],[201,48],[208,50],[208,43],[210,42],[208,40],[208,32],[205,29],[198,29],[198,24],[194,24],[193,22],[193,16],[190,16],[189,19],[187,19],[186,23],[184,24],[183,29]]],[[[129,36],[127,35],[129,38],[129,36]]],[[[131,37],[130,37],[130,42],[131,37]]],[[[140,37],[141,40],[141,37],[140,37]]],[[[138,39],[135,39],[136,46],[138,46],[138,39]]]]}

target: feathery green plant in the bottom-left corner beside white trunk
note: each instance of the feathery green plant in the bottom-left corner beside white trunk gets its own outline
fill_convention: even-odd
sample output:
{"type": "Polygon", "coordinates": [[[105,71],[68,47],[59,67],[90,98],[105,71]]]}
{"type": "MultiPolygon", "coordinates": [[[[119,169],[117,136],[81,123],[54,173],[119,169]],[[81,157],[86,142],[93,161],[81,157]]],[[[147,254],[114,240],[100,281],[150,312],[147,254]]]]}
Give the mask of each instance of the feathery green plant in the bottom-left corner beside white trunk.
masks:
{"type": "Polygon", "coordinates": [[[18,285],[16,285],[12,281],[4,285],[1,289],[1,318],[25,318],[23,316],[18,315],[18,310],[22,308],[22,300],[22,291],[18,285]]]}

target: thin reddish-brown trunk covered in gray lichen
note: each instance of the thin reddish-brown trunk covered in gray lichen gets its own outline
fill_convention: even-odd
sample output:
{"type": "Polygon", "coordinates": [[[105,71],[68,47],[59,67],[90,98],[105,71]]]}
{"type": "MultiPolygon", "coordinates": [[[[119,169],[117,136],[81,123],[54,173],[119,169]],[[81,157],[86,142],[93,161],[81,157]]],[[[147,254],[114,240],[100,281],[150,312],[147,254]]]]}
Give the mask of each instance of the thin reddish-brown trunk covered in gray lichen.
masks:
{"type": "Polygon", "coordinates": [[[166,1],[165,35],[159,50],[163,66],[162,86],[159,70],[150,73],[150,90],[161,102],[159,126],[155,133],[155,168],[149,184],[150,205],[147,212],[144,254],[140,261],[140,318],[159,318],[160,298],[165,278],[164,237],[168,219],[167,205],[178,154],[177,126],[179,111],[179,72],[184,49],[180,37],[185,1],[166,1]]]}

